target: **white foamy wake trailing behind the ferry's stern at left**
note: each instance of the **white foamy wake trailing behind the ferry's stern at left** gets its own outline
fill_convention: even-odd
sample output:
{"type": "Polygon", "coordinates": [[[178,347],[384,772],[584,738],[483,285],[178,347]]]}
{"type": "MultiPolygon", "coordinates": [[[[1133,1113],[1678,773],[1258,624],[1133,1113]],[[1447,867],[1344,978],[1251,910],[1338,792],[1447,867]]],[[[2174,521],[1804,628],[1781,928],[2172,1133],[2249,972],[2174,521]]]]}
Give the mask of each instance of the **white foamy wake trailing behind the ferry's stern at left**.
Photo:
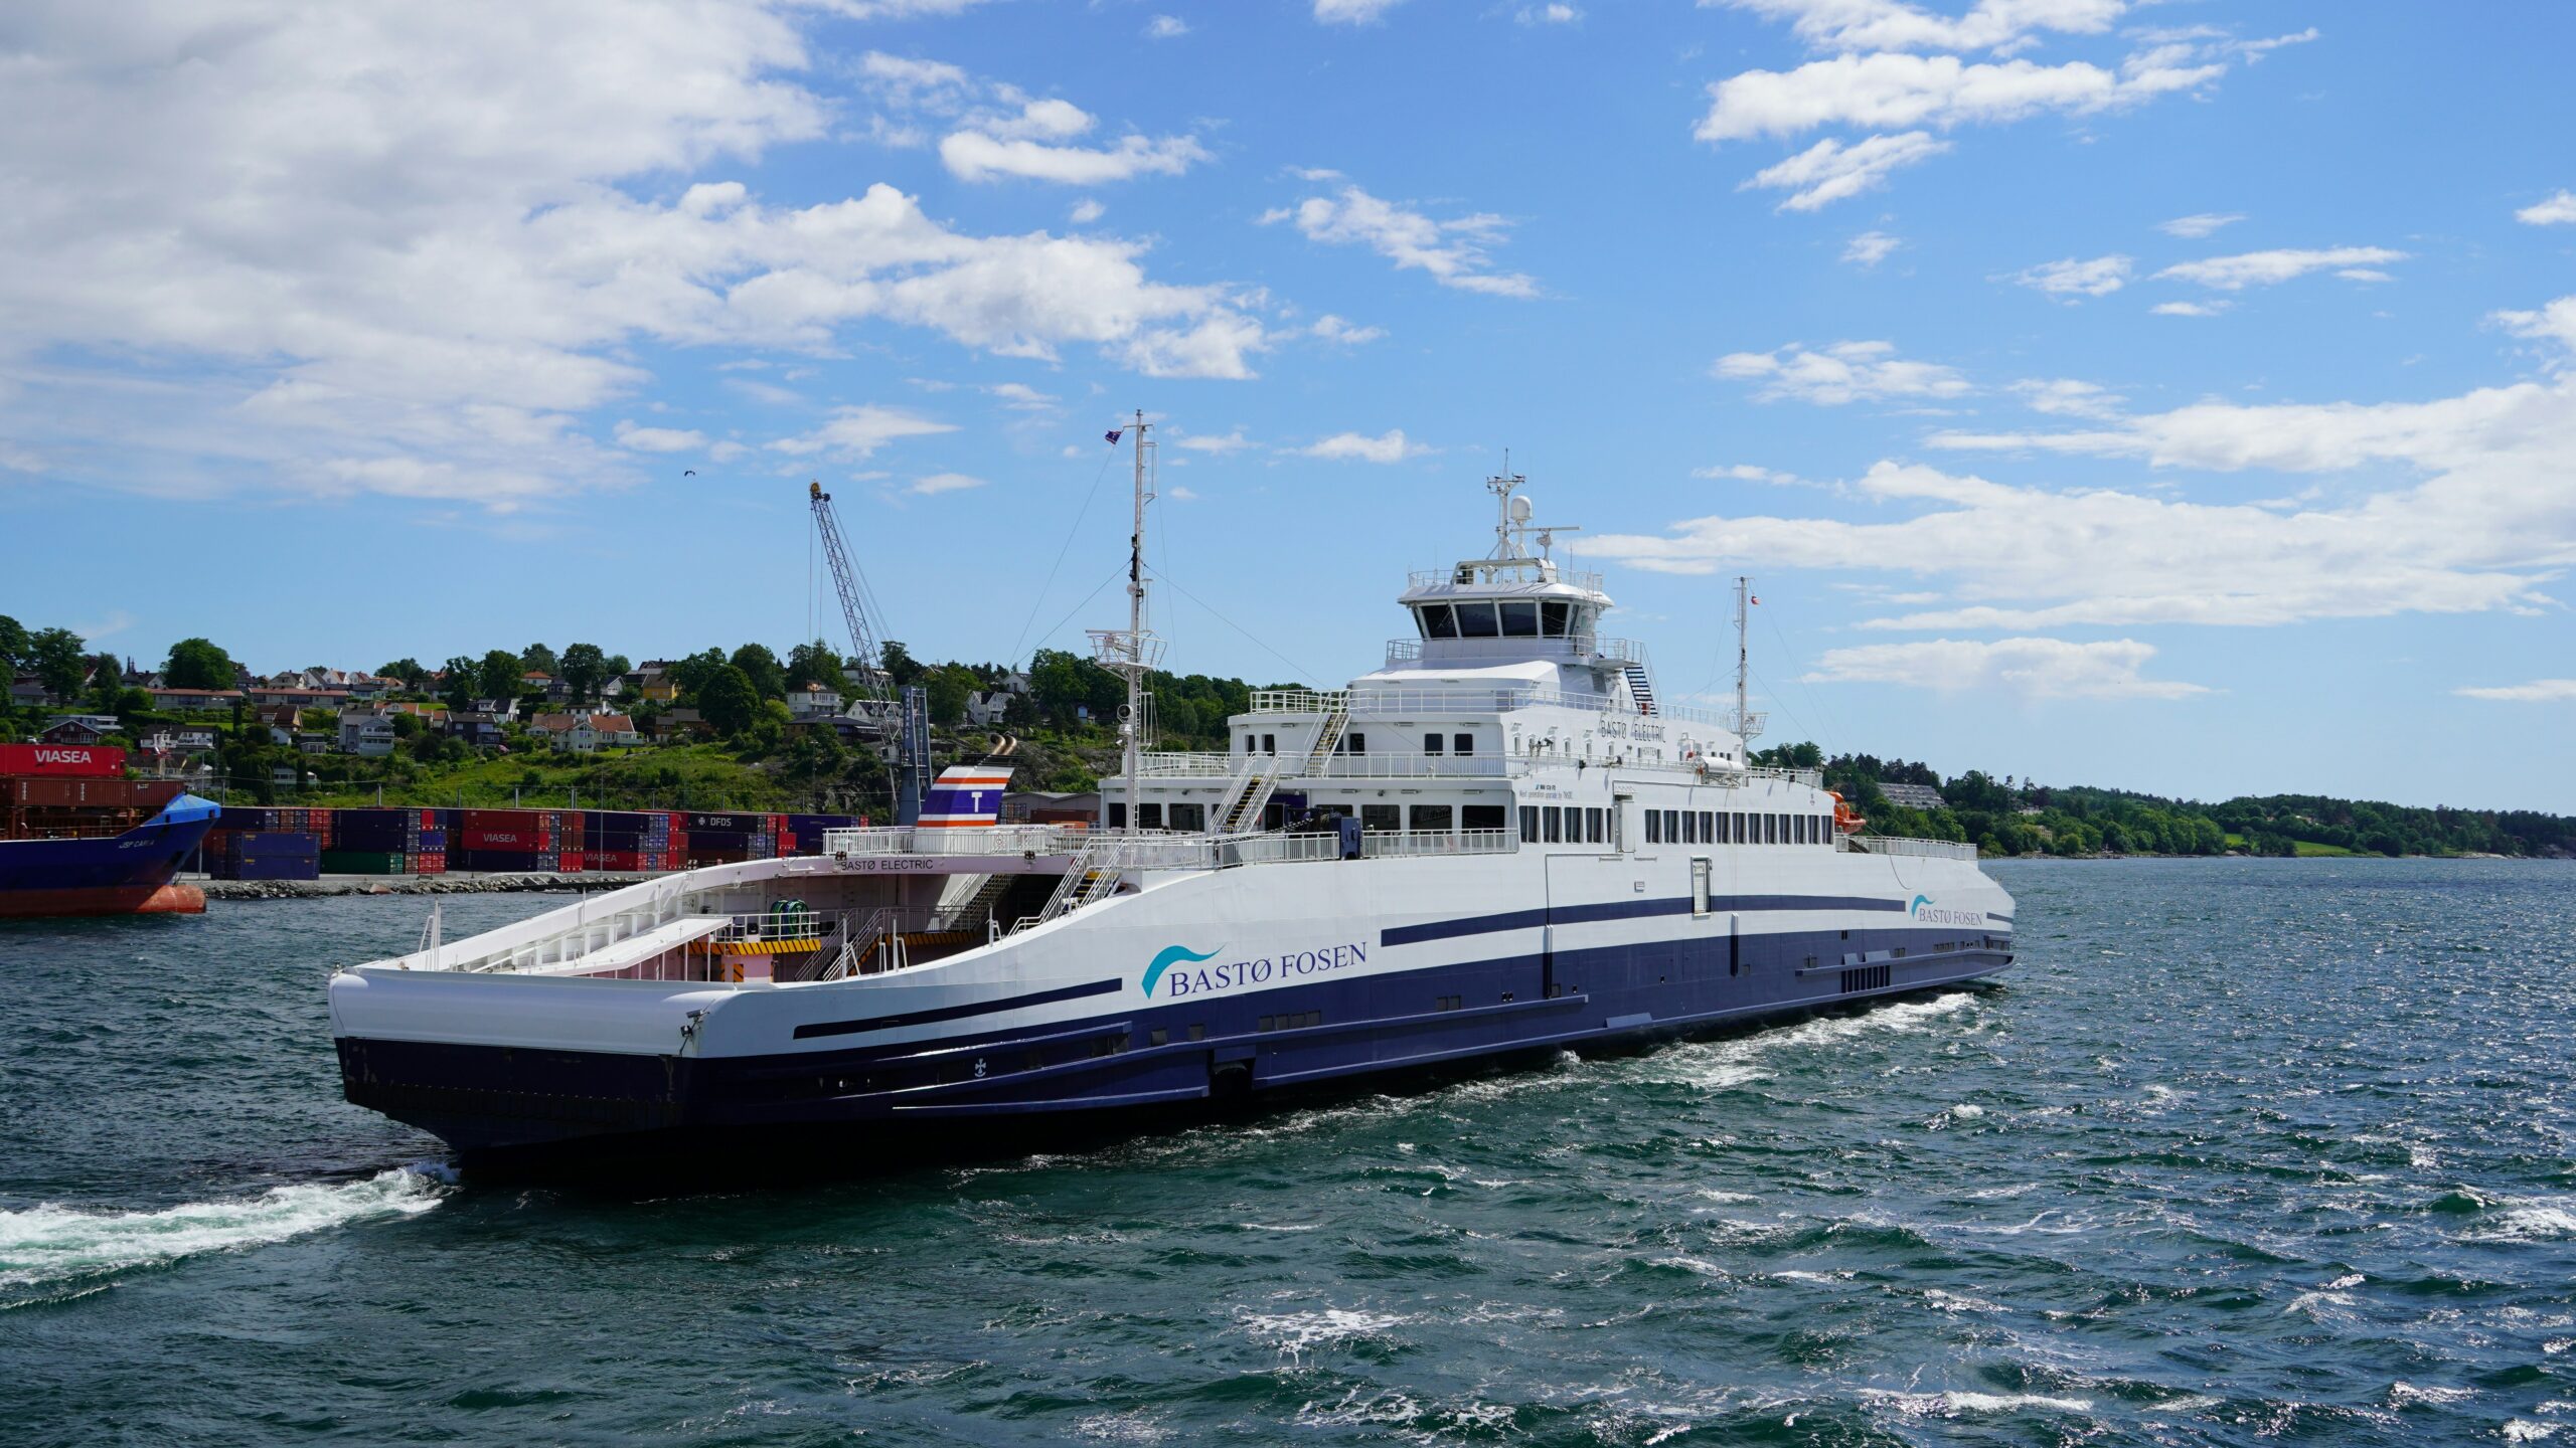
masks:
{"type": "Polygon", "coordinates": [[[270,1188],[242,1201],[191,1201],[162,1211],[0,1211],[0,1288],[44,1288],[286,1242],[379,1216],[415,1216],[446,1201],[443,1167],[397,1167],[363,1183],[270,1188]]]}

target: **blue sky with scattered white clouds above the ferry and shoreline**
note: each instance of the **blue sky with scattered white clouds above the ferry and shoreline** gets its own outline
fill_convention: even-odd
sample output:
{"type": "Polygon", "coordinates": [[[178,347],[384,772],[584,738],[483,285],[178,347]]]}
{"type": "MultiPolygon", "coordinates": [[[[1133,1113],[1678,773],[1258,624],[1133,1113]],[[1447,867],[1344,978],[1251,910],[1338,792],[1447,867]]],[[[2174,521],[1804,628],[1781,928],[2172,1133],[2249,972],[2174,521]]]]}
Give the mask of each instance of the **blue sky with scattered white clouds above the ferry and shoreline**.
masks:
{"type": "Polygon", "coordinates": [[[1121,613],[1144,407],[1182,670],[1373,667],[1510,448],[1667,696],[1759,580],[1775,739],[2576,812],[2571,46],[2563,5],[13,8],[0,613],[263,670],[786,647],[832,616],[811,477],[894,636],[1025,657],[1121,613]]]}

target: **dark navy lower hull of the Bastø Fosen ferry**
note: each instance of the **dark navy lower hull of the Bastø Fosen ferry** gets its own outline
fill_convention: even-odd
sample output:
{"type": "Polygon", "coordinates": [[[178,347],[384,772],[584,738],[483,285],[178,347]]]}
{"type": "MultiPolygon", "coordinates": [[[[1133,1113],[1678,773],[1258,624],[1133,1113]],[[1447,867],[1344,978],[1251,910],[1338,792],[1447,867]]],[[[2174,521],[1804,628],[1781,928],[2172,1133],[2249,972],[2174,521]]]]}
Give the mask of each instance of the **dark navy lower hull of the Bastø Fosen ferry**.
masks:
{"type": "Polygon", "coordinates": [[[1231,1002],[1239,1020],[1193,1002],[845,1051],[693,1056],[363,1036],[337,1046],[350,1103],[438,1134],[479,1170],[744,1154],[778,1170],[853,1170],[1566,1049],[1638,1049],[1958,987],[2012,961],[1976,948],[1909,956],[1883,982],[1801,971],[1793,961],[1826,935],[1839,948],[1883,946],[1837,930],[1767,935],[1752,958],[1734,961],[1723,948],[1662,946],[1502,956],[1404,971],[1401,992],[1386,976],[1262,992],[1231,1002]],[[1551,976],[1607,984],[1548,995],[1551,976]],[[1479,1005],[1388,1013],[1391,995],[1479,1005]],[[1265,1028],[1306,1013],[1324,1025],[1265,1028]],[[1193,1041],[1190,1025],[1206,1036],[1193,1041]]]}

